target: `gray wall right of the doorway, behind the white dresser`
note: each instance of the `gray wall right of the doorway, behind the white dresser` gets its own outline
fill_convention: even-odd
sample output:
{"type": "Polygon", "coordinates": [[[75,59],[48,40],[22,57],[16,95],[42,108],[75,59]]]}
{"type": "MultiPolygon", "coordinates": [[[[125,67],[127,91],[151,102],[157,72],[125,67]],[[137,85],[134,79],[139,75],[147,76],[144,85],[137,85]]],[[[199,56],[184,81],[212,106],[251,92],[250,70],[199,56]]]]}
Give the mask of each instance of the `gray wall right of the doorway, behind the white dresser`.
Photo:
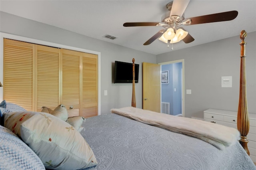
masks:
{"type": "MultiPolygon", "coordinates": [[[[241,28],[242,31],[242,28],[241,28]]],[[[206,109],[237,111],[240,81],[238,36],[157,55],[157,63],[184,59],[185,117],[203,117],[206,109]],[[232,76],[232,87],[221,87],[221,77],[232,76]],[[192,94],[186,94],[191,89],[192,94]]],[[[246,85],[249,113],[256,113],[256,32],[248,33],[246,85]]]]}

